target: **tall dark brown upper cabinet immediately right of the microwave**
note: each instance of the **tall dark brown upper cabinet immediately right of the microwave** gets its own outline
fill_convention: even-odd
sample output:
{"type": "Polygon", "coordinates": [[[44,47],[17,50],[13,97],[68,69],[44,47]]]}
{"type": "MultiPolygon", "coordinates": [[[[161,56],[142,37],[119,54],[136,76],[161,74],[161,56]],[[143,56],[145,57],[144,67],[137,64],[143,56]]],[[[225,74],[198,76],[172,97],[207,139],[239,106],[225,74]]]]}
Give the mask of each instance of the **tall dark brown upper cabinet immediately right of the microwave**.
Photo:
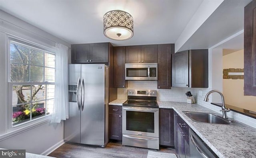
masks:
{"type": "Polygon", "coordinates": [[[158,63],[158,89],[171,89],[172,87],[172,54],[174,53],[174,44],[158,45],[157,63],[158,63]]]}

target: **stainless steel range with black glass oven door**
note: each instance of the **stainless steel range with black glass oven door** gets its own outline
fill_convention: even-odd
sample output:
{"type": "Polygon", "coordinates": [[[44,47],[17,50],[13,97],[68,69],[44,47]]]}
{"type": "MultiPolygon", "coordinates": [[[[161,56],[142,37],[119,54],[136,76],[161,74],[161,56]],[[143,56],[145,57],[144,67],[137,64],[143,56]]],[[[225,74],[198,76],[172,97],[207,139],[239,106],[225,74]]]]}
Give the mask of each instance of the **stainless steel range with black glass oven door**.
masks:
{"type": "Polygon", "coordinates": [[[128,90],[122,106],[122,144],[159,149],[156,90],[128,90]]]}

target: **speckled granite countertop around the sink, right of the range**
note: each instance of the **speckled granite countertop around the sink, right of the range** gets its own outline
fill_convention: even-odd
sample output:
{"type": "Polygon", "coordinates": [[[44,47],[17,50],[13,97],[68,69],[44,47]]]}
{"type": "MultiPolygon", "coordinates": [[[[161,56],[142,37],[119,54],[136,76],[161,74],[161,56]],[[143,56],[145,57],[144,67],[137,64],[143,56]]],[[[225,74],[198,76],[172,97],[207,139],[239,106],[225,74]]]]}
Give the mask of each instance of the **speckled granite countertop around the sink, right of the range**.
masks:
{"type": "MultiPolygon", "coordinates": [[[[174,109],[220,158],[256,158],[256,129],[248,125],[222,125],[192,121],[182,111],[216,113],[198,104],[157,101],[159,108],[174,109]]],[[[216,113],[217,115],[221,115],[216,113]]]]}

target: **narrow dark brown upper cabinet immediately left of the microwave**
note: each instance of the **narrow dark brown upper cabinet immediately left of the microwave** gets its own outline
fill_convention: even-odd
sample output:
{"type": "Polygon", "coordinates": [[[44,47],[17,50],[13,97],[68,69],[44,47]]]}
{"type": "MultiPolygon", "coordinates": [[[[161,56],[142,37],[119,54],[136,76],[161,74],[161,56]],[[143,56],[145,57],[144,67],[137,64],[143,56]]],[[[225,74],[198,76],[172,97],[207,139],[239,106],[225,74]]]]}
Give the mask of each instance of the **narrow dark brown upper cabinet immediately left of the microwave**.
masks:
{"type": "Polygon", "coordinates": [[[126,88],[125,47],[114,47],[114,87],[126,88]]]}

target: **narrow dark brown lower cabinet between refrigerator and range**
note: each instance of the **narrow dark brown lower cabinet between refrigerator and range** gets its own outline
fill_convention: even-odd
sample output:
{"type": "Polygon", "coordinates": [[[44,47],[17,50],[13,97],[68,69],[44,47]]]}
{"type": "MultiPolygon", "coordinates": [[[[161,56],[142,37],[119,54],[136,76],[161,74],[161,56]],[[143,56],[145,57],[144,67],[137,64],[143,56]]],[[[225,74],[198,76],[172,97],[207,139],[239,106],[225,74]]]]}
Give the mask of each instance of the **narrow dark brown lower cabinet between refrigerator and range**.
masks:
{"type": "Polygon", "coordinates": [[[122,106],[108,106],[109,138],[122,140],[122,106]]]}

